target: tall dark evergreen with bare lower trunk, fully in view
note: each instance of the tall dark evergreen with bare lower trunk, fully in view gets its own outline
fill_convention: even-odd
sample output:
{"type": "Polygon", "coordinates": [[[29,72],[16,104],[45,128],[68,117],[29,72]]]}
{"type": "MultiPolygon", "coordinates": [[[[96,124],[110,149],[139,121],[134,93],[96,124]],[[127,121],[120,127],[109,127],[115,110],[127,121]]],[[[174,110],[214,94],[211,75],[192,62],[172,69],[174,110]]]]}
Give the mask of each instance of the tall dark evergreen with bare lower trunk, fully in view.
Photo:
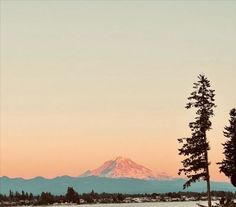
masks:
{"type": "Polygon", "coordinates": [[[179,174],[183,173],[188,180],[184,184],[184,189],[189,187],[191,183],[203,179],[207,182],[208,206],[211,207],[210,194],[210,175],[208,150],[209,142],[206,133],[211,129],[210,118],[214,115],[213,108],[216,107],[214,101],[215,91],[210,88],[210,81],[204,76],[199,75],[198,81],[194,83],[194,91],[188,98],[187,109],[196,108],[196,117],[193,122],[189,123],[191,136],[178,139],[182,143],[179,149],[179,155],[184,155],[182,161],[183,168],[179,170],[179,174]]]}

